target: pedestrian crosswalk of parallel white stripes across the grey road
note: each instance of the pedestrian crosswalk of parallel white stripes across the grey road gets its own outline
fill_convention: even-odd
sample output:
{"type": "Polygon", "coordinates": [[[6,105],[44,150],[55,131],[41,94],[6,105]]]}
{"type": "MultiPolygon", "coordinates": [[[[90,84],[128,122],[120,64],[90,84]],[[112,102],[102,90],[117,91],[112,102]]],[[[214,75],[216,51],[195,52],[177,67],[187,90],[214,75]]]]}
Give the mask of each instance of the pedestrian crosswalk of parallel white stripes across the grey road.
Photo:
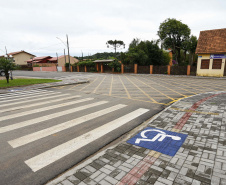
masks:
{"type": "Polygon", "coordinates": [[[127,111],[130,105],[121,102],[41,89],[2,94],[0,106],[0,136],[1,134],[10,136],[6,143],[11,146],[11,152],[21,148],[26,154],[26,150],[36,146],[37,142],[42,143],[43,138],[50,137],[48,149],[40,148],[32,156],[21,158],[33,172],[106,137],[149,111],[145,108],[127,111]],[[122,115],[122,111],[125,114],[122,115]],[[113,116],[112,120],[112,114],[119,116],[117,118],[113,116]],[[65,117],[67,119],[63,119],[65,117]],[[103,117],[106,119],[100,119],[103,117]],[[101,120],[101,123],[96,123],[96,120],[101,120]],[[90,122],[95,124],[89,125],[90,122]],[[90,129],[51,147],[52,135],[79,128],[81,125],[86,125],[90,129]]]}

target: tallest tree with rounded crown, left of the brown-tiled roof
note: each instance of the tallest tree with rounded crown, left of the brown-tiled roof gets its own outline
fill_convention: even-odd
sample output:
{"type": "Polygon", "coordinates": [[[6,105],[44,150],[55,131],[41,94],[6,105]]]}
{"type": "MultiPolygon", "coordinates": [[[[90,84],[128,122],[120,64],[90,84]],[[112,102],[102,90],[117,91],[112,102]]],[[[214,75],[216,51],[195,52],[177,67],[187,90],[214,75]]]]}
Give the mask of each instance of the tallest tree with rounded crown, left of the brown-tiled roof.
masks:
{"type": "Polygon", "coordinates": [[[163,42],[163,46],[166,49],[172,49],[178,63],[181,63],[180,50],[183,43],[189,40],[190,33],[190,28],[176,19],[168,18],[159,26],[158,36],[163,42]]]}

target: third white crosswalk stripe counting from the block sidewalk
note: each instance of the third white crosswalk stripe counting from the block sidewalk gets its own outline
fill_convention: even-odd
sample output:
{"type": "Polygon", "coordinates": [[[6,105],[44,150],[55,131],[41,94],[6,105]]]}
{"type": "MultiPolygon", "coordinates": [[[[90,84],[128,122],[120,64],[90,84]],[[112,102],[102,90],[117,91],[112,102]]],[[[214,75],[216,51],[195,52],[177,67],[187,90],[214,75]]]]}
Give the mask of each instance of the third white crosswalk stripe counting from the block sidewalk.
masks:
{"type": "Polygon", "coordinates": [[[56,113],[53,113],[53,114],[48,114],[46,116],[34,118],[34,119],[31,119],[31,120],[23,121],[23,122],[16,123],[16,124],[13,124],[13,125],[1,127],[0,133],[8,132],[8,131],[11,131],[11,130],[15,130],[15,129],[30,126],[30,125],[34,125],[34,124],[37,124],[37,123],[40,123],[40,122],[43,122],[43,121],[47,121],[47,120],[50,120],[50,119],[53,119],[53,118],[58,118],[60,116],[64,116],[64,115],[67,115],[67,114],[71,114],[71,113],[74,113],[74,112],[85,110],[85,109],[95,107],[95,106],[98,106],[98,105],[103,105],[105,103],[108,103],[108,102],[107,101],[100,101],[100,102],[76,107],[76,108],[73,108],[73,109],[69,109],[69,110],[65,110],[65,111],[61,111],[61,112],[56,112],[56,113]]]}

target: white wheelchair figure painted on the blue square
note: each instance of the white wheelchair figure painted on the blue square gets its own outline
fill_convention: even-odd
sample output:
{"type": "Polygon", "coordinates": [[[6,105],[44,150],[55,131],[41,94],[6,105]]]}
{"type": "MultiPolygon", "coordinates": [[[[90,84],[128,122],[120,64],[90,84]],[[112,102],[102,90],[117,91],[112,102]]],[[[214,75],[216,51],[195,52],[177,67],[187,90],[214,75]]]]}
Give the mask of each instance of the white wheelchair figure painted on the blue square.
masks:
{"type": "Polygon", "coordinates": [[[170,137],[173,140],[181,140],[181,137],[179,136],[173,136],[173,135],[167,135],[165,132],[161,131],[161,130],[157,130],[157,129],[148,129],[148,130],[144,130],[143,132],[141,132],[141,137],[142,138],[137,138],[135,143],[139,144],[141,141],[150,141],[150,142],[154,142],[156,140],[162,142],[166,137],[170,137]],[[145,136],[146,132],[158,132],[158,134],[152,138],[152,139],[147,139],[147,136],[145,136]]]}

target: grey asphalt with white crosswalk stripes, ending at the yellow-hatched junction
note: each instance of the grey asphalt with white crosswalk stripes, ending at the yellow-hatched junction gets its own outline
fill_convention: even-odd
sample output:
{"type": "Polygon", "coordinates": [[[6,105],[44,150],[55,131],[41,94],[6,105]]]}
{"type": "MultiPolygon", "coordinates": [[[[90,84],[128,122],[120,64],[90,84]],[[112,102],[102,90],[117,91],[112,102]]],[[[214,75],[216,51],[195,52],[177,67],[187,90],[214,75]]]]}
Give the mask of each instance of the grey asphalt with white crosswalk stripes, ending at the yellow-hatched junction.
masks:
{"type": "Polygon", "coordinates": [[[162,110],[160,104],[55,88],[4,94],[0,104],[4,185],[44,184],[162,110]]]}

